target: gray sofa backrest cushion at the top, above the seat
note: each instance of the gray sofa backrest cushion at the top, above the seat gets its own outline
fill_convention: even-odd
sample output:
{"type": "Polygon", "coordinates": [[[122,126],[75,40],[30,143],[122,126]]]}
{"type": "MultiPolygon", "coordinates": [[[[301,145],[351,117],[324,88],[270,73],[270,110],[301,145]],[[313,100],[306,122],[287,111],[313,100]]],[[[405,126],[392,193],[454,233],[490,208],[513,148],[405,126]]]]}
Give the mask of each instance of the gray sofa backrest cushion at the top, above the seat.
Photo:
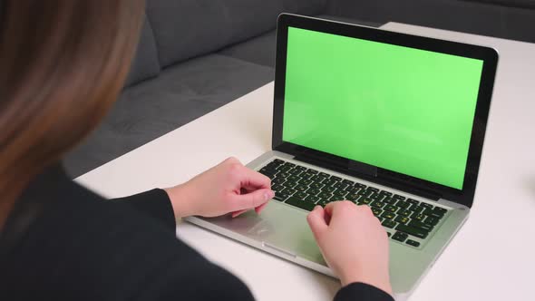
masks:
{"type": "Polygon", "coordinates": [[[265,33],[280,13],[325,7],[326,0],[148,0],[146,11],[166,67],[265,33]]]}

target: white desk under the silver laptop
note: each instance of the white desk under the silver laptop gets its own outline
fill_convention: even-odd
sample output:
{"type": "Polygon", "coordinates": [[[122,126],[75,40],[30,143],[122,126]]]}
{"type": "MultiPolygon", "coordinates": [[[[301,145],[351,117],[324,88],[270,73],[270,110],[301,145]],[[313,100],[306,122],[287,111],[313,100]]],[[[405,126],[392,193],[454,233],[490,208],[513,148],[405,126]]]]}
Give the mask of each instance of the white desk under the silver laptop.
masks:
{"type": "MultiPolygon", "coordinates": [[[[535,270],[535,44],[404,24],[384,28],[494,46],[501,53],[472,216],[411,300],[525,300],[535,270]]],[[[78,178],[106,197],[189,180],[234,155],[270,149],[273,84],[78,178]]],[[[328,300],[330,277],[181,223],[178,236],[228,268],[259,300],[328,300]]],[[[180,285],[180,284],[177,284],[180,285]]]]}

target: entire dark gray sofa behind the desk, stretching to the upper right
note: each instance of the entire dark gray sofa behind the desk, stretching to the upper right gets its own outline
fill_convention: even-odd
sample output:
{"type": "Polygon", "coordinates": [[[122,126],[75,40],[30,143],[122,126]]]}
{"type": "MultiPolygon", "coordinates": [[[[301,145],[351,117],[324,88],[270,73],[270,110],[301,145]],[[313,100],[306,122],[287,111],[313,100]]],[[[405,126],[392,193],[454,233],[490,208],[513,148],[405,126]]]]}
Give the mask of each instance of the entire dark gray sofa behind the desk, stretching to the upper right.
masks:
{"type": "Polygon", "coordinates": [[[82,175],[272,81],[282,12],[370,26],[400,21],[535,42],[534,2],[148,0],[122,95],[101,126],[67,156],[65,167],[73,177],[82,175]]]}

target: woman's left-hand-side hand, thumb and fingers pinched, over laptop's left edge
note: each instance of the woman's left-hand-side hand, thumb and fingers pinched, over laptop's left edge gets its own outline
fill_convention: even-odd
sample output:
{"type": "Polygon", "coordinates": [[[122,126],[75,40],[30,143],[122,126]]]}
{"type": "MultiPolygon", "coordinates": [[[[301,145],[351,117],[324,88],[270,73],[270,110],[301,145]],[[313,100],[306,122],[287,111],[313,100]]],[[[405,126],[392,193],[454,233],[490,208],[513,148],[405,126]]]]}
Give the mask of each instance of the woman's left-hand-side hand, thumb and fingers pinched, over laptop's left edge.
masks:
{"type": "Polygon", "coordinates": [[[192,215],[217,217],[232,212],[232,217],[248,209],[257,213],[274,196],[271,180],[249,170],[236,158],[229,158],[197,177],[165,189],[176,218],[192,215]]]}

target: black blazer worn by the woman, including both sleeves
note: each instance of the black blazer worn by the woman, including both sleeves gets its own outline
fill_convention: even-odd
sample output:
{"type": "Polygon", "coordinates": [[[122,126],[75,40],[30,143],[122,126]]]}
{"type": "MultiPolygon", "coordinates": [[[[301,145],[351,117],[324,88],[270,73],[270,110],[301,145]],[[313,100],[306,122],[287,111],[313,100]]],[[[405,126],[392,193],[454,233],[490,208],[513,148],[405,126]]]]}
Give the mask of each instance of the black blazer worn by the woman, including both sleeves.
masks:
{"type": "MultiPolygon", "coordinates": [[[[60,166],[24,190],[0,236],[0,300],[252,300],[175,234],[167,193],[107,200],[60,166]]],[[[393,300],[362,283],[335,300],[393,300]]]]}

